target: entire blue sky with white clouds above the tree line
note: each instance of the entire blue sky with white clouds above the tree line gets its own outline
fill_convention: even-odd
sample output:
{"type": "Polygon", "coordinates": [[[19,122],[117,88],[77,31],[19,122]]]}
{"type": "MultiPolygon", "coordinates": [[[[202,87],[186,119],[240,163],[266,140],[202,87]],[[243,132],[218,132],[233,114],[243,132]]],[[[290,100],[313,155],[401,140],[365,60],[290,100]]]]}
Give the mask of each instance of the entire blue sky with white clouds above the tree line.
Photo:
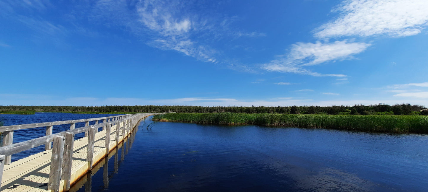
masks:
{"type": "Polygon", "coordinates": [[[0,105],[428,105],[426,0],[0,7],[0,105]]]}

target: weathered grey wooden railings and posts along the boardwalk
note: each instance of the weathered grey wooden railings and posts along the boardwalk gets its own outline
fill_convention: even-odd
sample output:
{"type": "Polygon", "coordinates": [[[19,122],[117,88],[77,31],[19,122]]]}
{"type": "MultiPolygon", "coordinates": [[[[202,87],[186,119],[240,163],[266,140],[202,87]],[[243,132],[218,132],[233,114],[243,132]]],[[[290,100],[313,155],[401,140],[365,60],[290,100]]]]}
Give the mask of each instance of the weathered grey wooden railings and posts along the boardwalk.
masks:
{"type": "Polygon", "coordinates": [[[0,183],[3,175],[3,166],[11,163],[11,157],[13,154],[29,150],[40,145],[45,145],[45,150],[50,150],[53,142],[48,190],[59,191],[59,182],[60,180],[64,180],[64,190],[66,191],[70,188],[71,160],[73,156],[74,134],[85,132],[85,137],[89,137],[86,161],[88,161],[88,170],[91,170],[92,165],[94,163],[92,162],[92,159],[94,151],[95,133],[98,132],[99,128],[102,128],[103,131],[106,130],[105,148],[107,155],[111,151],[109,143],[111,126],[116,125],[116,130],[118,130],[116,131],[115,135],[117,146],[119,144],[120,128],[122,128],[122,137],[125,137],[125,132],[129,134],[131,129],[133,129],[141,119],[154,114],[164,113],[137,113],[92,119],[77,119],[68,121],[2,126],[0,127],[0,132],[3,132],[4,137],[3,146],[0,147],[0,183]],[[101,123],[99,123],[100,120],[102,120],[101,123]],[[95,125],[89,125],[90,121],[95,121],[95,125]],[[78,122],[85,122],[85,126],[81,128],[75,128],[75,124],[78,122]],[[122,122],[123,127],[119,127],[122,122]],[[70,130],[52,134],[54,125],[64,124],[70,124],[70,130]],[[46,127],[46,136],[12,144],[14,131],[38,127],[46,127]]]}

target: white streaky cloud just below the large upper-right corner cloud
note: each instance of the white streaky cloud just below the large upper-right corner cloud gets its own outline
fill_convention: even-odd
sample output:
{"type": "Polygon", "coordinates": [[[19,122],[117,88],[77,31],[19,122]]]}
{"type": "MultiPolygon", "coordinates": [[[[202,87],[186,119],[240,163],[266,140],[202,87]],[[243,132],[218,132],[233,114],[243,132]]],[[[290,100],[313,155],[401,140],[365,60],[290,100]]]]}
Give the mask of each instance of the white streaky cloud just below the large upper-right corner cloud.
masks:
{"type": "Polygon", "coordinates": [[[335,41],[333,43],[296,43],[291,46],[291,51],[282,58],[263,64],[262,68],[268,71],[282,73],[296,73],[309,76],[333,76],[346,77],[343,74],[321,74],[306,69],[307,66],[353,58],[352,55],[363,52],[371,44],[348,43],[335,41]]]}

